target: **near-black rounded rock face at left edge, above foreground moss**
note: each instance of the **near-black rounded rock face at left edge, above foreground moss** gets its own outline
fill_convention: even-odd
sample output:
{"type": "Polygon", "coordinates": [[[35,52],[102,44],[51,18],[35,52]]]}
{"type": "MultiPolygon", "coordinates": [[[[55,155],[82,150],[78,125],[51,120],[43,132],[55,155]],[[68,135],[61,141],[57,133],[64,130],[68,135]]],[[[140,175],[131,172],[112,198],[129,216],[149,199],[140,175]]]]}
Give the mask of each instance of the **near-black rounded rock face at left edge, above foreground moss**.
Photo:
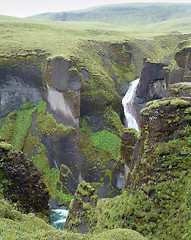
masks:
{"type": "Polygon", "coordinates": [[[0,180],[4,196],[19,202],[27,213],[41,212],[48,215],[49,193],[33,162],[4,141],[0,141],[0,158],[0,180]]]}

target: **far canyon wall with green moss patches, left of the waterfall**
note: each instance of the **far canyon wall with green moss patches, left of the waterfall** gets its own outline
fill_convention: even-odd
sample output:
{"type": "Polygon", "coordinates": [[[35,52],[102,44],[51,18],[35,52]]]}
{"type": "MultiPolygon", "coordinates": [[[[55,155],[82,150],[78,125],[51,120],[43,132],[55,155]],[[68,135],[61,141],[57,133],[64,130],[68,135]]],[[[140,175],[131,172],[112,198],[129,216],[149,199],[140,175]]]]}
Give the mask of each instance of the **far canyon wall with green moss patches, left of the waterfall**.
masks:
{"type": "MultiPolygon", "coordinates": [[[[121,96],[153,56],[154,42],[86,43],[79,58],[39,51],[0,59],[0,135],[33,160],[60,204],[82,180],[102,197],[124,187],[121,96]]],[[[155,86],[148,91],[160,97],[155,86]]]]}

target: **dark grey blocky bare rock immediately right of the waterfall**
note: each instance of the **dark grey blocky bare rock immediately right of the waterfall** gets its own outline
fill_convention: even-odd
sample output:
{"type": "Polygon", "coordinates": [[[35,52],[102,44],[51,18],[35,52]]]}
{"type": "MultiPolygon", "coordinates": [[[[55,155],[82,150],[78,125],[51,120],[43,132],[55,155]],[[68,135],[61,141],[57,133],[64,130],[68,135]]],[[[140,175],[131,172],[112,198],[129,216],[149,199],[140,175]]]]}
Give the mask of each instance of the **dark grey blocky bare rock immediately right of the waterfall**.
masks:
{"type": "Polygon", "coordinates": [[[165,96],[166,82],[164,80],[162,63],[145,62],[137,88],[139,101],[147,102],[165,96]]]}

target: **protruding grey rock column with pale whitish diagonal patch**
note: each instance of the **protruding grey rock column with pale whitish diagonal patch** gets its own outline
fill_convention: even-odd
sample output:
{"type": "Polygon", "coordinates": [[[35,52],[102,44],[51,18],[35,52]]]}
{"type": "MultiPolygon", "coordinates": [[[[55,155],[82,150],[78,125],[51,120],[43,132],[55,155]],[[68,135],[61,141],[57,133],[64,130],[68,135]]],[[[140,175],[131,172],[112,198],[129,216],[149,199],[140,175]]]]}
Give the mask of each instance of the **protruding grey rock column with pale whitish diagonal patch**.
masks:
{"type": "Polygon", "coordinates": [[[49,63],[44,74],[45,81],[51,84],[47,89],[48,110],[58,123],[78,126],[81,77],[74,63],[55,59],[49,63]]]}

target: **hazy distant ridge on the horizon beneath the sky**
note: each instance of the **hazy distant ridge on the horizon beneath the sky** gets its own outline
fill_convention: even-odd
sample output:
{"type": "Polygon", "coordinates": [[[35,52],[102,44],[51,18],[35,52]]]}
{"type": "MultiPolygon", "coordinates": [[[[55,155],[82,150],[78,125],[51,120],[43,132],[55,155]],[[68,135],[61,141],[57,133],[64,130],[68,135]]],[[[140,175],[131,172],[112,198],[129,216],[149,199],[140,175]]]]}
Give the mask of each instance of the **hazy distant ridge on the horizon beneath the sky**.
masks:
{"type": "Polygon", "coordinates": [[[43,13],[29,18],[53,21],[95,21],[120,26],[135,26],[187,17],[191,17],[191,3],[106,5],[79,11],[43,13]]]}

